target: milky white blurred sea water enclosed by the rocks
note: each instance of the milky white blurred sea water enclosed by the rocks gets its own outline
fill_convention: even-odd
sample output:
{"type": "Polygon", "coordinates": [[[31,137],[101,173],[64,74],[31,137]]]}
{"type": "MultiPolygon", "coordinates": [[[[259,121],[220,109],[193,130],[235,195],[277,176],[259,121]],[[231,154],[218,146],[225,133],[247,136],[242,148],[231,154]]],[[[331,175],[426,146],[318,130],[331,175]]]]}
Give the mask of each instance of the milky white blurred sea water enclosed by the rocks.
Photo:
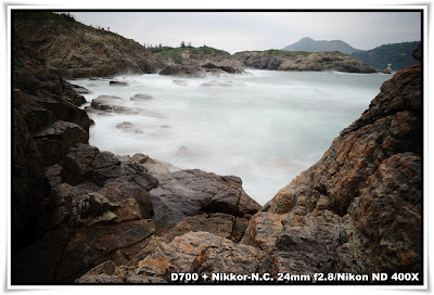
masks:
{"type": "Polygon", "coordinates": [[[120,97],[117,105],[141,111],[89,112],[95,123],[91,145],[117,155],[148,154],[179,168],[239,176],[245,192],[264,205],[320,159],[392,77],[248,72],[206,78],[115,77],[127,87],[110,86],[106,79],[72,82],[92,91],[85,94],[87,105],[105,94],[120,97]],[[129,100],[139,93],[153,99],[129,100]],[[133,125],[132,131],[116,128],[124,121],[133,125]]]}

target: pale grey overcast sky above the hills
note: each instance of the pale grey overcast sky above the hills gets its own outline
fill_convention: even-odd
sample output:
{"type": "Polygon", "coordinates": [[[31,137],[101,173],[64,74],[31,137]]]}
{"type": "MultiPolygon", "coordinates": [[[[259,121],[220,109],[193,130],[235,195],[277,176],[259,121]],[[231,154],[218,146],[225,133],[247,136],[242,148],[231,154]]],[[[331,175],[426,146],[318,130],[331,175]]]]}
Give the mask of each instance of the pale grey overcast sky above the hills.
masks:
{"type": "Polygon", "coordinates": [[[419,12],[75,12],[77,21],[143,43],[181,41],[234,53],[282,49],[304,37],[357,49],[421,40],[419,12]]]}

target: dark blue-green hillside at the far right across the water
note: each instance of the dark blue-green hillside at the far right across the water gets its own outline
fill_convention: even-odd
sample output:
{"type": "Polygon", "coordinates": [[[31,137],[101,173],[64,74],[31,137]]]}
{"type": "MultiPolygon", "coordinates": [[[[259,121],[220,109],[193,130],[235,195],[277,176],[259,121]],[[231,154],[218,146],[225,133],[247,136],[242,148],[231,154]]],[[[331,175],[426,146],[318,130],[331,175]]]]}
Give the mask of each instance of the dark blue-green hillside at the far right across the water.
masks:
{"type": "Polygon", "coordinates": [[[392,70],[398,70],[420,64],[412,56],[412,52],[419,43],[420,41],[384,44],[371,50],[354,52],[350,55],[375,69],[384,69],[387,67],[387,64],[392,64],[392,70]]]}

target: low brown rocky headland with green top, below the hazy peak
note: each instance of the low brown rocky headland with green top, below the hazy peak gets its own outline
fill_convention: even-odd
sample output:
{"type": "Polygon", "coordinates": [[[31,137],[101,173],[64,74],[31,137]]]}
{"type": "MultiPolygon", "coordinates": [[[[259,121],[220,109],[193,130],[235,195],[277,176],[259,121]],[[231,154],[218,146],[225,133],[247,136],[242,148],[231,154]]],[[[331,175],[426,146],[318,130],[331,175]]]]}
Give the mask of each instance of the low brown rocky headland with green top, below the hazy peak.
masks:
{"type": "Polygon", "coordinates": [[[341,52],[251,51],[239,52],[233,57],[246,66],[277,70],[339,70],[346,73],[375,73],[359,60],[341,52]]]}

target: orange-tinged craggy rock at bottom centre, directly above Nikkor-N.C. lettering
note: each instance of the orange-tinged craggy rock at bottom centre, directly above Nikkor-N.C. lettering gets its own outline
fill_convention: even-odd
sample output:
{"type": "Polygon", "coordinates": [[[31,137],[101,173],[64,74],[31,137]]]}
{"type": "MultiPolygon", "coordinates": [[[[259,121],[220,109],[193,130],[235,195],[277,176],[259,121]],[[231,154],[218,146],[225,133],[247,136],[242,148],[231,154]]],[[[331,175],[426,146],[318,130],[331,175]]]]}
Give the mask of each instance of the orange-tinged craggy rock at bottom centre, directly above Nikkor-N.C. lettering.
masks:
{"type": "Polygon", "coordinates": [[[234,244],[208,232],[189,232],[162,243],[138,264],[137,274],[170,280],[170,272],[251,273],[260,266],[264,253],[255,247],[234,244]]]}

